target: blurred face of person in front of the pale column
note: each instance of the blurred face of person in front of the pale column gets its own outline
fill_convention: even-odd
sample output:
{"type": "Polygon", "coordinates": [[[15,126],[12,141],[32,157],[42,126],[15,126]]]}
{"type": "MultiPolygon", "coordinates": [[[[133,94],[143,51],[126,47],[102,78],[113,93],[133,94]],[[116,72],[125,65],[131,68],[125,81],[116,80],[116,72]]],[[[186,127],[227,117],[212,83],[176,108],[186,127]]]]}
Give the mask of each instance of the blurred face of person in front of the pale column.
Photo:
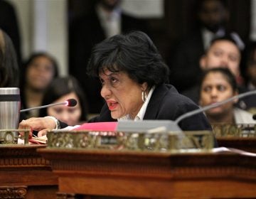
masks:
{"type": "Polygon", "coordinates": [[[26,83],[34,90],[44,90],[53,80],[53,63],[45,56],[39,56],[28,65],[26,83]]]}

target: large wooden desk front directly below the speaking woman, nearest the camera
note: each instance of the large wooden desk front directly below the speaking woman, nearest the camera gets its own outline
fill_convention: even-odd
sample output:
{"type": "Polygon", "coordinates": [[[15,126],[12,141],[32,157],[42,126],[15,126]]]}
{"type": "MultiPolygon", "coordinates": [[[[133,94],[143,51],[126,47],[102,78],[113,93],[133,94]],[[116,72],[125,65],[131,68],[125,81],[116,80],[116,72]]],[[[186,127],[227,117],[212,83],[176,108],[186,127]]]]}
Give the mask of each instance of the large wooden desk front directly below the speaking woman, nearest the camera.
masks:
{"type": "Polygon", "coordinates": [[[60,193],[87,198],[256,198],[256,158],[249,156],[85,149],[38,152],[51,161],[60,193]]]}

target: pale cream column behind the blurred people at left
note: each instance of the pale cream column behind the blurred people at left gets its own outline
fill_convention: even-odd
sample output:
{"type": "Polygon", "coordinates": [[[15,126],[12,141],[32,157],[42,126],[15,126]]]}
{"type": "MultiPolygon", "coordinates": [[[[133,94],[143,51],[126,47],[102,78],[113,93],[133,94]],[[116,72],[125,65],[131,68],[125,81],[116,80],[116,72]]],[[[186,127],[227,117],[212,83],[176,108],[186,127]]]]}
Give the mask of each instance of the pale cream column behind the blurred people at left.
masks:
{"type": "Polygon", "coordinates": [[[23,60],[40,50],[52,54],[60,65],[60,75],[68,72],[67,1],[8,0],[18,16],[23,60]]]}

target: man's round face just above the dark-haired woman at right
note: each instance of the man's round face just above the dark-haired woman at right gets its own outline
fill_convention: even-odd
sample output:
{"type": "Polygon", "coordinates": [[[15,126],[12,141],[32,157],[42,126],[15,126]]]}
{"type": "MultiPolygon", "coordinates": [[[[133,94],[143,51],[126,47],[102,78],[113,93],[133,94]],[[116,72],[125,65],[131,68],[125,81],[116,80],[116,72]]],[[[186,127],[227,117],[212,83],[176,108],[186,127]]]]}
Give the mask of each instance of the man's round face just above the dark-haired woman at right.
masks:
{"type": "Polygon", "coordinates": [[[240,75],[240,51],[231,41],[215,41],[210,46],[208,53],[201,58],[201,67],[208,68],[228,68],[235,77],[240,75]]]}

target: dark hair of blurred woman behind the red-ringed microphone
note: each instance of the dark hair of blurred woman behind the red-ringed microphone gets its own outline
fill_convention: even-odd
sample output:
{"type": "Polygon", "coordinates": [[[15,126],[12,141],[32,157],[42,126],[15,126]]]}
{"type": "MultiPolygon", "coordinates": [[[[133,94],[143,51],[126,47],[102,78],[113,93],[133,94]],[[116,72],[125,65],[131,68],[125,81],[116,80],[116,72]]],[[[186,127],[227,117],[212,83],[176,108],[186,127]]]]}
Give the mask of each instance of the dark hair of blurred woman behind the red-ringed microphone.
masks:
{"type": "MultiPolygon", "coordinates": [[[[86,121],[88,109],[85,95],[82,92],[78,80],[76,80],[73,76],[56,77],[53,82],[50,83],[45,94],[43,95],[42,104],[51,104],[60,97],[63,97],[63,95],[68,95],[70,92],[75,92],[75,95],[78,96],[80,101],[82,112],[80,121],[86,121]]],[[[40,109],[39,117],[45,117],[47,115],[47,109],[40,109]]]]}

